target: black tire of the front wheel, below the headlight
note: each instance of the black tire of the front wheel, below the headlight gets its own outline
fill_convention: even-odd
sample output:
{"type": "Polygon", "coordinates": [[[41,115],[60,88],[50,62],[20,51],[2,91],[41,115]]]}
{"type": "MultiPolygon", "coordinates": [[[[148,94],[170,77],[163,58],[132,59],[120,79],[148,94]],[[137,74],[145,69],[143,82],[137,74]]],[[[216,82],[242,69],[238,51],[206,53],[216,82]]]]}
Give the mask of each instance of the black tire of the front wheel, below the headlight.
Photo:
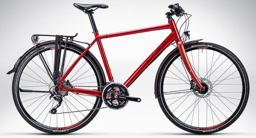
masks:
{"type": "MultiPolygon", "coordinates": [[[[169,110],[169,107],[166,104],[166,99],[164,97],[165,94],[163,94],[163,81],[164,81],[166,72],[167,72],[168,68],[170,67],[170,65],[174,62],[174,60],[180,56],[178,49],[175,48],[162,61],[161,65],[159,67],[156,79],[155,79],[155,94],[156,94],[156,97],[158,98],[159,105],[160,105],[163,113],[166,115],[166,117],[177,127],[181,128],[185,131],[188,131],[191,133],[197,133],[197,134],[206,134],[206,133],[214,133],[214,132],[221,131],[221,130],[229,127],[232,123],[234,123],[235,120],[237,120],[239,118],[239,116],[245,109],[245,106],[248,101],[248,96],[249,96],[249,80],[248,80],[246,70],[243,67],[243,64],[241,63],[241,61],[231,51],[227,50],[223,46],[213,44],[213,43],[201,42],[201,43],[193,43],[193,44],[185,45],[184,47],[185,47],[186,52],[189,52],[189,51],[192,51],[195,49],[201,49],[201,48],[211,49],[211,50],[218,51],[219,53],[221,53],[221,54],[225,55],[227,58],[229,58],[234,63],[234,65],[237,67],[239,74],[241,76],[241,81],[243,83],[243,87],[242,87],[243,91],[242,91],[240,103],[239,103],[237,109],[235,110],[235,112],[230,116],[229,119],[227,119],[221,125],[219,125],[219,126],[216,125],[216,127],[209,127],[209,129],[207,127],[199,129],[199,128],[190,126],[190,123],[189,124],[184,123],[184,122],[186,122],[186,120],[183,122],[183,121],[179,120],[178,117],[175,117],[175,115],[169,110]]],[[[191,54],[192,54],[192,52],[191,52],[191,54]]],[[[193,121],[193,119],[192,119],[192,121],[193,121]]],[[[199,118],[198,118],[198,121],[199,121],[199,118]]],[[[191,122],[191,124],[192,124],[192,122],[191,122]]],[[[206,125],[207,125],[207,121],[206,121],[206,125]]]]}

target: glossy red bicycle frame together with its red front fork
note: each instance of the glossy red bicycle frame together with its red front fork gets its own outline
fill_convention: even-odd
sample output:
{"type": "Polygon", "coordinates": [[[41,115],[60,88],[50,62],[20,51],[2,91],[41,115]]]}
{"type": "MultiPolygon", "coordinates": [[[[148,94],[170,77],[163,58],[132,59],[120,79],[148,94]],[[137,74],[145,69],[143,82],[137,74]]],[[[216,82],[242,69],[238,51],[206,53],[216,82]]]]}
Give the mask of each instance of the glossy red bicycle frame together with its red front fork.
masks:
{"type": "Polygon", "coordinates": [[[77,60],[74,61],[74,63],[70,66],[69,69],[64,73],[64,75],[59,79],[59,82],[61,85],[59,85],[59,89],[64,90],[64,91],[69,91],[69,92],[74,92],[74,93],[82,93],[82,94],[89,94],[89,95],[95,95],[95,96],[102,96],[102,92],[97,91],[97,90],[88,90],[88,89],[78,89],[78,88],[62,88],[62,81],[65,80],[65,78],[70,74],[71,70],[75,67],[75,65],[80,61],[80,59],[85,55],[85,53],[93,46],[95,42],[97,42],[98,47],[99,47],[99,52],[101,53],[101,57],[107,72],[107,76],[109,78],[109,81],[114,81],[112,77],[112,73],[110,71],[109,63],[107,62],[107,58],[103,49],[103,45],[101,42],[101,39],[104,38],[111,38],[111,37],[118,37],[118,36],[123,36],[123,35],[131,35],[131,34],[137,34],[137,33],[143,33],[143,32],[149,32],[149,31],[157,31],[157,30],[162,30],[162,29],[171,29],[170,35],[166,37],[166,39],[158,46],[157,49],[139,66],[136,71],[125,81],[124,85],[126,87],[129,87],[135,80],[136,78],[141,75],[141,73],[162,53],[163,50],[167,48],[169,44],[172,42],[176,41],[176,44],[178,46],[179,53],[181,54],[181,58],[184,62],[184,65],[189,72],[191,78],[197,86],[200,89],[203,89],[204,87],[198,80],[197,76],[195,75],[194,70],[191,67],[191,64],[189,62],[189,59],[187,58],[186,51],[184,49],[183,42],[181,41],[181,36],[179,35],[179,32],[177,30],[176,24],[174,20],[169,21],[168,24],[165,25],[159,25],[159,26],[153,26],[153,27],[147,27],[147,28],[142,28],[142,29],[135,29],[131,31],[125,31],[125,32],[118,32],[118,33],[112,33],[112,34],[105,34],[105,35],[99,35],[98,32],[94,32],[95,39],[91,44],[86,48],[85,51],[77,58],[77,60]]]}

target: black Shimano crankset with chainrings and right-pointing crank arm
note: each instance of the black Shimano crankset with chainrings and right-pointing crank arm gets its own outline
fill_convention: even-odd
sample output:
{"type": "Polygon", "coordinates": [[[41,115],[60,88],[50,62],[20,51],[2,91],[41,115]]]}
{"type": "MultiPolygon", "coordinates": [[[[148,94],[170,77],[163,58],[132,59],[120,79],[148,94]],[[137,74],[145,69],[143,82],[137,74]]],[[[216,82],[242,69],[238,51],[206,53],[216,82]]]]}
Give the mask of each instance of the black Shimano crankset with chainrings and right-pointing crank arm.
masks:
{"type": "Polygon", "coordinates": [[[122,109],[129,101],[141,102],[140,98],[129,96],[125,85],[114,82],[110,82],[104,87],[102,100],[107,107],[114,110],[122,109]]]}

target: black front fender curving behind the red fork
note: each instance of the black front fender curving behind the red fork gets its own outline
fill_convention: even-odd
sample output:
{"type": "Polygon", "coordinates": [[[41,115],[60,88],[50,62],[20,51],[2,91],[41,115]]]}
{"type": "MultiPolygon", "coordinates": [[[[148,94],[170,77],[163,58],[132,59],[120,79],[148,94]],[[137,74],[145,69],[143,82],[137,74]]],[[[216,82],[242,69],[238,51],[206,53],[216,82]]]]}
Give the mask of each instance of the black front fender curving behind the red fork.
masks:
{"type": "MultiPolygon", "coordinates": [[[[193,43],[198,43],[199,41],[202,41],[202,39],[198,39],[198,40],[193,40],[193,41],[186,42],[186,43],[184,43],[184,46],[189,45],[189,44],[193,44],[193,43]]],[[[155,98],[158,97],[158,93],[157,93],[157,92],[158,92],[158,90],[157,90],[157,81],[158,81],[158,76],[159,76],[159,74],[160,74],[160,70],[161,70],[163,64],[165,63],[165,61],[167,60],[167,58],[170,57],[170,55],[173,54],[174,51],[176,51],[176,50],[178,50],[178,48],[175,48],[173,51],[171,51],[171,52],[166,56],[166,58],[162,61],[162,63],[160,64],[160,67],[159,67],[159,69],[158,69],[158,71],[157,71],[157,76],[155,77],[155,98]]]]}

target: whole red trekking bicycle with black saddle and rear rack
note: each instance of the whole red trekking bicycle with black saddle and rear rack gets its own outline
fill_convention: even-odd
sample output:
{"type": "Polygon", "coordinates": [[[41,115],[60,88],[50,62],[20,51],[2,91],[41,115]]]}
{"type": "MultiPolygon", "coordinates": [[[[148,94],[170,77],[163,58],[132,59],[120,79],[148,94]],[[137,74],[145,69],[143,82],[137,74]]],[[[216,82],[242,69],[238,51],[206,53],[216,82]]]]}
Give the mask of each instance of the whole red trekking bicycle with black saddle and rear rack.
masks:
{"type": "MultiPolygon", "coordinates": [[[[166,117],[177,127],[192,133],[213,133],[230,126],[245,109],[249,80],[241,61],[226,48],[194,40],[186,42],[189,17],[181,6],[170,5],[168,24],[99,35],[93,13],[105,4],[79,4],[93,27],[95,39],[83,48],[74,37],[33,35],[34,47],[15,63],[7,74],[13,78],[13,98],[21,116],[46,133],[70,133],[86,126],[99,109],[122,109],[131,97],[128,87],[165,50],[177,47],[162,61],[155,78],[155,98],[166,117]],[[94,9],[95,8],[95,9],[94,9]],[[184,31],[177,29],[172,16],[185,18],[184,31]],[[138,67],[124,84],[113,80],[101,39],[170,29],[171,33],[138,67]],[[180,35],[181,33],[182,35],[180,35]],[[52,36],[53,41],[38,42],[52,36]],[[109,81],[89,49],[97,42],[109,81]],[[102,102],[106,107],[101,107],[102,102]]],[[[80,42],[83,43],[83,42],[80,42]]]]}

